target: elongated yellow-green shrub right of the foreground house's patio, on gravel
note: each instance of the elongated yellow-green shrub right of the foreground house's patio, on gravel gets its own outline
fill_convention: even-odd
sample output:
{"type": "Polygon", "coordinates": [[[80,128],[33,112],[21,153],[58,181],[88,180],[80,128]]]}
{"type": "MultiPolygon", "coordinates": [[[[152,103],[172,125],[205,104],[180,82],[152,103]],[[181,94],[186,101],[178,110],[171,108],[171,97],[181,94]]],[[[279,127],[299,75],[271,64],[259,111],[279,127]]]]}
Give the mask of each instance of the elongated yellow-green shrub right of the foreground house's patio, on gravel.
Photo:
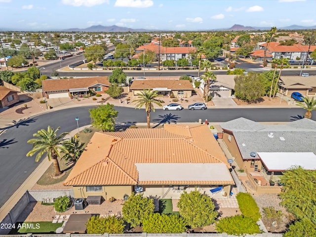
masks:
{"type": "Polygon", "coordinates": [[[259,207],[253,197],[248,193],[238,193],[236,197],[242,215],[250,217],[254,221],[258,221],[261,215],[259,207]]]}

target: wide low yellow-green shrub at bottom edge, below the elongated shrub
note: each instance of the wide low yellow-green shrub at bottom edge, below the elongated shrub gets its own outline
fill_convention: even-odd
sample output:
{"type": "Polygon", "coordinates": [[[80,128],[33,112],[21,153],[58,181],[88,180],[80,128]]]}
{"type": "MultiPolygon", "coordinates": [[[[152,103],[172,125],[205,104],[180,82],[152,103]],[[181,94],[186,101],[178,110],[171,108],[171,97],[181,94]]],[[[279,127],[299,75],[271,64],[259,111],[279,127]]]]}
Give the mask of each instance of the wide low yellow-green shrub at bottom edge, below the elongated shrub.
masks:
{"type": "Polygon", "coordinates": [[[252,218],[242,215],[220,219],[216,224],[216,230],[219,233],[227,233],[228,235],[261,233],[259,226],[252,218]]]}

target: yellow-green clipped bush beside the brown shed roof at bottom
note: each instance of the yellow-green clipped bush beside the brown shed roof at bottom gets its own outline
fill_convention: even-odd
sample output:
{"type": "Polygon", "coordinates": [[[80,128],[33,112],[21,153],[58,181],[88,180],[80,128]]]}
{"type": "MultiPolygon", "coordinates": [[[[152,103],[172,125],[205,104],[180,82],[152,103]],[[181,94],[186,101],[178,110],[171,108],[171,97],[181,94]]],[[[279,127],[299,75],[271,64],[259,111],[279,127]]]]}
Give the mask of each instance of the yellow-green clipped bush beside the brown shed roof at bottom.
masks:
{"type": "Polygon", "coordinates": [[[115,216],[100,217],[91,216],[91,218],[86,223],[87,234],[99,234],[104,233],[109,234],[123,234],[124,233],[124,223],[121,218],[116,218],[115,216]]]}

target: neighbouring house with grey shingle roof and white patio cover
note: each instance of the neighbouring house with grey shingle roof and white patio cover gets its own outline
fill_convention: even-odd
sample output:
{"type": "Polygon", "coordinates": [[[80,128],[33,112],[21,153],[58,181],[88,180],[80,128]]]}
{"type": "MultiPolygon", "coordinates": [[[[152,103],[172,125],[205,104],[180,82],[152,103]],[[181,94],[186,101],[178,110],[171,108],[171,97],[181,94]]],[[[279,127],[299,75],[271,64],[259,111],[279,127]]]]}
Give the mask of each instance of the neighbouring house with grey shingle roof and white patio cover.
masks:
{"type": "Polygon", "coordinates": [[[222,123],[221,127],[223,141],[240,169],[248,172],[283,171],[285,166],[302,164],[301,159],[305,158],[310,160],[310,167],[315,163],[314,120],[303,118],[286,124],[262,124],[237,118],[222,123]]]}

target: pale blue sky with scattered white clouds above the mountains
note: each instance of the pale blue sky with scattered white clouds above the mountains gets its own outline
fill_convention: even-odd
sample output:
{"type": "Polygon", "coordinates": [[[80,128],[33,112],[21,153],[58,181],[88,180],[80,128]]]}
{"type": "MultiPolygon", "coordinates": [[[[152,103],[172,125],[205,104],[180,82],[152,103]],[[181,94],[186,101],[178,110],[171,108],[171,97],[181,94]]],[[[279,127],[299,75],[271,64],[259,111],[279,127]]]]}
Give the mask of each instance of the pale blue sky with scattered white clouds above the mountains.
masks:
{"type": "Polygon", "coordinates": [[[0,15],[0,30],[19,31],[315,26],[316,0],[0,0],[0,15]]]}

